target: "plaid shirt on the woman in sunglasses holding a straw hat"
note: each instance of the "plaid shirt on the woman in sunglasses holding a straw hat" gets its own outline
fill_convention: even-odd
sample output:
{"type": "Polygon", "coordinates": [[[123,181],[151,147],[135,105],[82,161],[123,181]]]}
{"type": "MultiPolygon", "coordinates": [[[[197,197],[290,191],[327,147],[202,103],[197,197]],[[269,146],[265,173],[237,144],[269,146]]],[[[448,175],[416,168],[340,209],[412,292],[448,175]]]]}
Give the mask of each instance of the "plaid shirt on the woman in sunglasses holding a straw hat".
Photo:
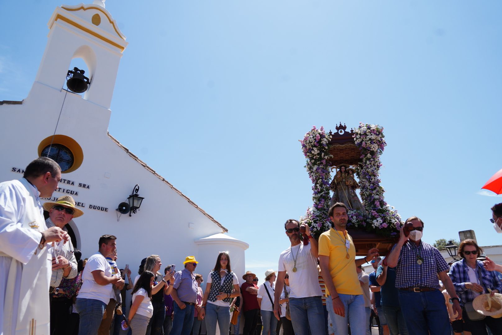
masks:
{"type": "MultiPolygon", "coordinates": [[[[472,290],[465,288],[465,284],[470,282],[467,271],[468,265],[465,262],[465,259],[462,259],[461,261],[453,263],[450,273],[448,273],[451,281],[453,282],[453,286],[455,286],[455,291],[460,298],[460,304],[462,306],[464,303],[474,300],[472,290]]],[[[498,279],[496,272],[486,270],[482,262],[476,261],[476,269],[474,270],[474,273],[476,274],[477,283],[484,288],[483,293],[488,293],[488,288],[492,290],[497,289],[498,292],[502,292],[502,282],[498,279]],[[481,282],[479,282],[478,269],[481,270],[481,282]]]]}

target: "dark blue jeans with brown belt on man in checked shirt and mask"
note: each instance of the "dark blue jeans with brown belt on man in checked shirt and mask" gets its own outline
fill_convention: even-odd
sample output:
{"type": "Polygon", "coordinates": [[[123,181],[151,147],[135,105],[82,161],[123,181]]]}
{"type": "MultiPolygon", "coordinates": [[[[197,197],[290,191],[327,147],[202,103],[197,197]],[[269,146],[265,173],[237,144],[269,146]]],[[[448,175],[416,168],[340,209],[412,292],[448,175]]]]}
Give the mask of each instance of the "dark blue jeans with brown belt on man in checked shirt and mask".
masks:
{"type": "Polygon", "coordinates": [[[399,303],[410,335],[450,333],[450,318],[440,290],[430,292],[399,290],[399,303]]]}

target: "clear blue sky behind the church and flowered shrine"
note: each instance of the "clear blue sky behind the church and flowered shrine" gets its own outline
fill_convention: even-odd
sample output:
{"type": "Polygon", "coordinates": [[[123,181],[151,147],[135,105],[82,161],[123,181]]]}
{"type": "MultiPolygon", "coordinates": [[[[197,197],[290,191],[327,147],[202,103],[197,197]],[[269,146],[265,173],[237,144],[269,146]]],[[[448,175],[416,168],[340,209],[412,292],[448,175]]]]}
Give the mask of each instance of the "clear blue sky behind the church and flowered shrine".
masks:
{"type": "MultiPolygon", "coordinates": [[[[0,1],[0,100],[27,96],[62,4],[0,1]]],[[[386,200],[423,219],[425,242],[473,229],[502,244],[488,222],[502,197],[480,192],[502,168],[502,3],[105,5],[130,43],[110,133],[249,243],[261,279],[312,205],[298,142],[312,125],[385,127],[386,200]]]]}

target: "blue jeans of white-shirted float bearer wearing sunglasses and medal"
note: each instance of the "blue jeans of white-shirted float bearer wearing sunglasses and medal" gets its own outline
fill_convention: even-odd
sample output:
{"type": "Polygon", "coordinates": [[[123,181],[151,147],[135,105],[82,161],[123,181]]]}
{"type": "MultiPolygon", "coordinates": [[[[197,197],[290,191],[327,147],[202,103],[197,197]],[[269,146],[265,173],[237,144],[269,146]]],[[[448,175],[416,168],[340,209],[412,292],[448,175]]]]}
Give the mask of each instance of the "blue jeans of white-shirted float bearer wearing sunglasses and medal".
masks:
{"type": "Polygon", "coordinates": [[[295,335],[324,334],[324,308],[320,296],[289,298],[289,311],[295,335]]]}

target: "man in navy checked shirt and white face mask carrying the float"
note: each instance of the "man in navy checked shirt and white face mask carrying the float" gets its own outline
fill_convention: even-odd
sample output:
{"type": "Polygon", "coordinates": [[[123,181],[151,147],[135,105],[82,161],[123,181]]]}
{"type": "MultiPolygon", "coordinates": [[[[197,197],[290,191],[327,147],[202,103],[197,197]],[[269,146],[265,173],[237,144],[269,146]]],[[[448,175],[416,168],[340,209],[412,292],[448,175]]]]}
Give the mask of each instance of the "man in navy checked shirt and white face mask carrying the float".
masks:
{"type": "Polygon", "coordinates": [[[453,311],[462,316],[457,293],[446,271],[448,264],[439,250],[421,241],[424,223],[413,216],[405,221],[399,241],[384,265],[396,267],[399,302],[410,335],[449,334],[450,322],[439,290],[439,279],[453,301],[453,311]],[[408,235],[408,236],[407,236],[408,235]]]}

